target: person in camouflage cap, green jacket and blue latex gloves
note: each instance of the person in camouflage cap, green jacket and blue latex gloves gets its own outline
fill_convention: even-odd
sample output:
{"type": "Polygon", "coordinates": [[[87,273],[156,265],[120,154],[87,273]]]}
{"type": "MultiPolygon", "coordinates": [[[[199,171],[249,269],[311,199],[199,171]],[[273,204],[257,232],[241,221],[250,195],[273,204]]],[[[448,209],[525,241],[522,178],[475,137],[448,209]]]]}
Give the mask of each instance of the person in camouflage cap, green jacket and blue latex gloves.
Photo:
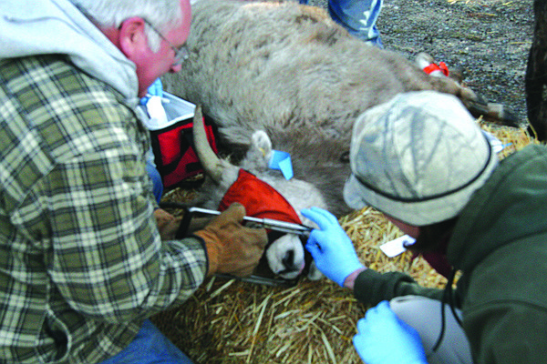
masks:
{"type": "Polygon", "coordinates": [[[547,358],[547,148],[498,163],[453,96],[403,94],[367,110],[353,129],[344,196],[376,207],[416,238],[449,283],[423,288],[401,272],[365,268],[325,210],[303,210],[320,229],[317,268],[376,305],[358,323],[367,364],[544,363],[547,358]],[[462,272],[455,290],[454,273],[462,272]],[[389,302],[387,302],[389,300],[389,302]]]}

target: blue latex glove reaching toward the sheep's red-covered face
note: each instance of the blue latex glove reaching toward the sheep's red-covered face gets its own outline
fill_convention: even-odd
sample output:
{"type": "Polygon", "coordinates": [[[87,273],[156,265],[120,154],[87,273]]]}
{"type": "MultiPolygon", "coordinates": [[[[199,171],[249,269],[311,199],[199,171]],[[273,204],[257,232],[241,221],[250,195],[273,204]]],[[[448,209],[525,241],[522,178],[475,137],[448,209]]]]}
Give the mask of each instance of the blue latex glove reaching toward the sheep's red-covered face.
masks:
{"type": "Polygon", "coordinates": [[[340,227],[338,219],[323,208],[304,208],[300,212],[320,228],[312,230],[305,248],[314,257],[317,268],[344,287],[347,276],[364,268],[346,231],[340,227]]]}

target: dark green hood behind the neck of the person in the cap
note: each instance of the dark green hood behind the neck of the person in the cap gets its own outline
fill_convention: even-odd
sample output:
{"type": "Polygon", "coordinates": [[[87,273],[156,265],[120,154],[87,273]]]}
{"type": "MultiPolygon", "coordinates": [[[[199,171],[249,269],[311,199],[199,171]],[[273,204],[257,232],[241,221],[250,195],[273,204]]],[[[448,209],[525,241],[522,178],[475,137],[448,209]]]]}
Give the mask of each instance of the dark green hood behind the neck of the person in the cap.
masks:
{"type": "Polygon", "coordinates": [[[547,148],[528,146],[501,161],[459,215],[447,256],[467,274],[503,246],[547,232],[547,148]]]}

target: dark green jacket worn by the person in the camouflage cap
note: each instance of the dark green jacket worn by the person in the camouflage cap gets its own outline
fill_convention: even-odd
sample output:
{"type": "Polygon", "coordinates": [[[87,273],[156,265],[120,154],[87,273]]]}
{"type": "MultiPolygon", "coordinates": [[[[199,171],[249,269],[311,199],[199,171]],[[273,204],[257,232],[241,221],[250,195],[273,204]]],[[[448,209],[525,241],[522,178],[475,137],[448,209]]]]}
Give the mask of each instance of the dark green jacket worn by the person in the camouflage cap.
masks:
{"type": "MultiPolygon", "coordinates": [[[[459,215],[447,258],[462,272],[456,295],[476,363],[547,362],[547,147],[501,161],[459,215]]],[[[399,272],[367,269],[356,298],[442,297],[399,272]]]]}

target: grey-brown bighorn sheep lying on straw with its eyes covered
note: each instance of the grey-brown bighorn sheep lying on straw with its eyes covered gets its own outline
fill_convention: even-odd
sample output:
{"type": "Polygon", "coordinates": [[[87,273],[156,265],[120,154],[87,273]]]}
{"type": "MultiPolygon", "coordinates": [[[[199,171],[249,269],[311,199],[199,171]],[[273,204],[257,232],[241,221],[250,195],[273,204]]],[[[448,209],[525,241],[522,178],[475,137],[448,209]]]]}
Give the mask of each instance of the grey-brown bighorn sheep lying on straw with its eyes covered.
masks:
{"type": "MultiPolygon", "coordinates": [[[[200,0],[192,11],[190,58],[180,73],[164,76],[163,85],[202,105],[219,127],[221,143],[248,147],[239,167],[212,159],[222,173],[209,170],[217,185],[203,187],[205,207],[219,206],[241,167],[277,189],[295,211],[318,206],[341,217],[349,212],[342,190],[351,129],[366,109],[399,93],[437,90],[458,96],[470,110],[488,110],[449,77],[428,76],[403,56],[348,35],[322,9],[200,0]],[[293,179],[267,169],[272,145],[293,157],[293,179]]],[[[302,249],[294,240],[289,245],[302,249]]],[[[293,268],[274,271],[298,274],[303,252],[294,254],[300,263],[293,268]]]]}

